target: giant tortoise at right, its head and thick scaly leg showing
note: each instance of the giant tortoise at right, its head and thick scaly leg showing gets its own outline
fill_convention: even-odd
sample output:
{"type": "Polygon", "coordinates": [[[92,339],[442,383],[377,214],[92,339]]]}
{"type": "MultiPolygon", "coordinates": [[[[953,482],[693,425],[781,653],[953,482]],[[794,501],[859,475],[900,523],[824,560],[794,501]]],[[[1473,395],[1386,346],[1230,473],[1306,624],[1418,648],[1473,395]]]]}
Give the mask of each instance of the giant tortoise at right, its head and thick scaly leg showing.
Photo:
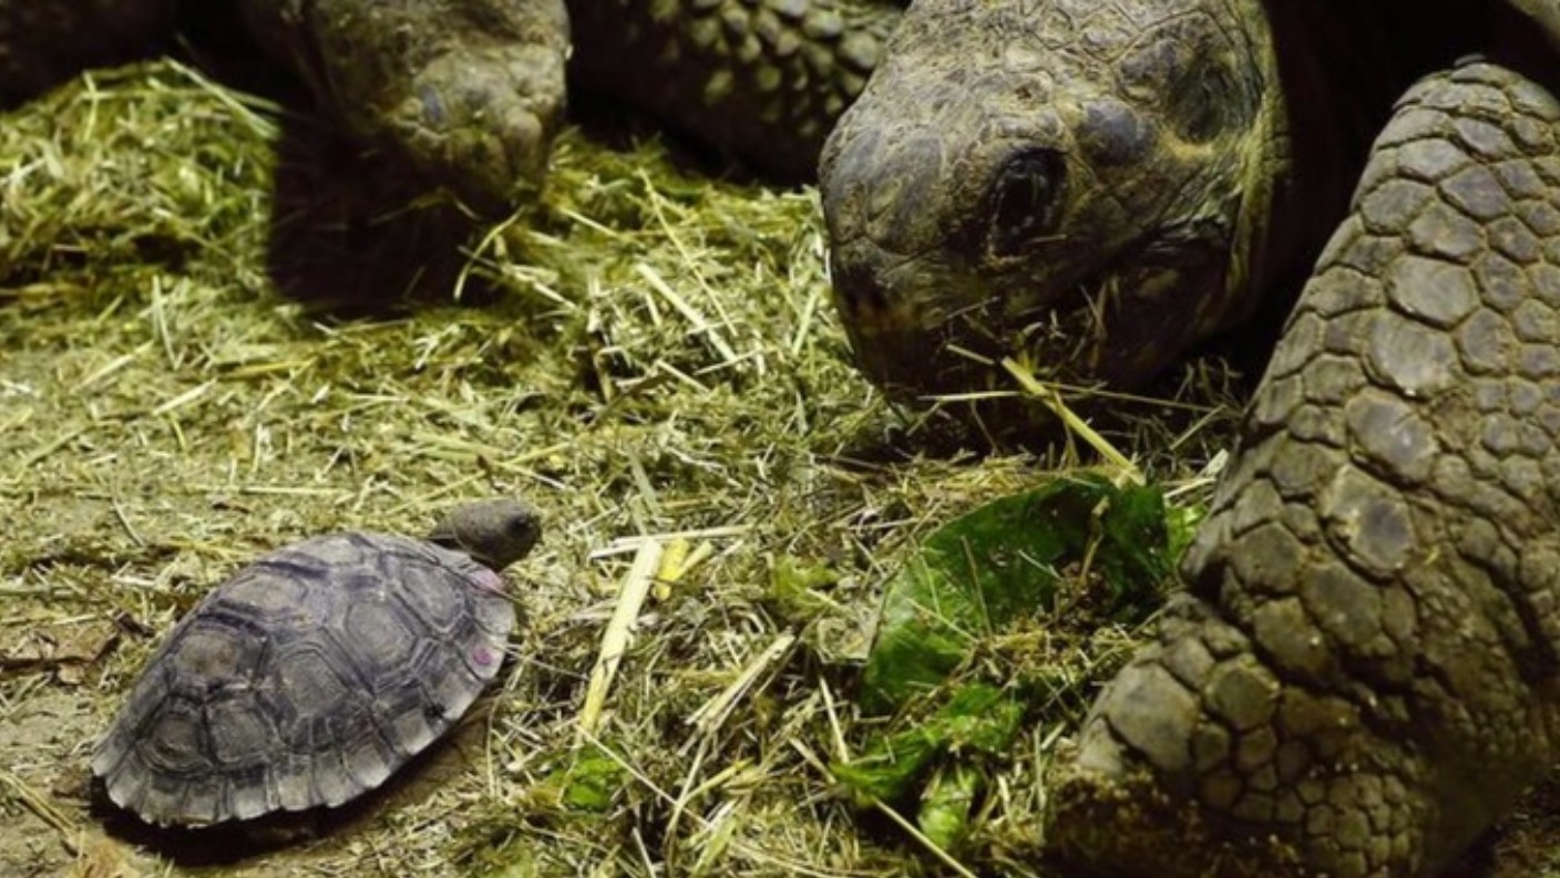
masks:
{"type": "Polygon", "coordinates": [[[1554,764],[1557,44],[1554,0],[917,0],[835,129],[900,395],[1129,387],[1309,278],[1051,778],[1069,873],[1438,875],[1554,764]]]}

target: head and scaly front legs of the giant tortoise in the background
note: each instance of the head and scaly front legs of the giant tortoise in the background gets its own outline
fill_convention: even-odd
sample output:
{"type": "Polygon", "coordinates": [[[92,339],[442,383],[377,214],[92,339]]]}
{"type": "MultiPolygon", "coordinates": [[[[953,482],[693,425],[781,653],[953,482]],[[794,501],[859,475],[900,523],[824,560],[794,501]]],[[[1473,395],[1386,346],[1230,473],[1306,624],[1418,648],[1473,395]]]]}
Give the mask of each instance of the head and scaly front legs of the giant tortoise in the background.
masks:
{"type": "MultiPolygon", "coordinates": [[[[899,19],[894,0],[232,0],[359,140],[470,206],[526,203],[565,62],[749,165],[811,179],[899,19]]],[[[173,0],[0,0],[0,101],[165,42],[173,0]]]]}

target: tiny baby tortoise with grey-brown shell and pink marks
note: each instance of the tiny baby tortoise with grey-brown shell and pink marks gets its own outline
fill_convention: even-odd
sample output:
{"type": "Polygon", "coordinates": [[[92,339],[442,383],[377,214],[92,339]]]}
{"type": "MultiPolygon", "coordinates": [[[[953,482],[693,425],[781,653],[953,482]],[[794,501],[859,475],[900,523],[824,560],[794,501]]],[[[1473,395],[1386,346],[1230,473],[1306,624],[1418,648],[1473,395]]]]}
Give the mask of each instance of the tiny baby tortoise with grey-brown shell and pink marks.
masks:
{"type": "Polygon", "coordinates": [[[92,774],[122,808],[181,827],[335,806],[379,786],[498,674],[515,611],[493,571],[537,533],[527,508],[498,501],[434,533],[480,546],[493,566],[381,533],[254,561],[151,657],[92,774]]]}

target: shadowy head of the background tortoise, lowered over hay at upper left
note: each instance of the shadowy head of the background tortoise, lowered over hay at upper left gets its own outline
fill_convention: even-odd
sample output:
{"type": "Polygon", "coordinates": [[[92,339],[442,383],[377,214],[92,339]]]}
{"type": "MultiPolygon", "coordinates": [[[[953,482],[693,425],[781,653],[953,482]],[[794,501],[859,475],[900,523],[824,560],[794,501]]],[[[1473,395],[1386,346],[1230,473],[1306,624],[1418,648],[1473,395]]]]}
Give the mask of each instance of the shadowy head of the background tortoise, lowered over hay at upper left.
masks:
{"type": "Polygon", "coordinates": [[[239,0],[351,134],[480,211],[540,186],[563,114],[562,0],[239,0]]]}

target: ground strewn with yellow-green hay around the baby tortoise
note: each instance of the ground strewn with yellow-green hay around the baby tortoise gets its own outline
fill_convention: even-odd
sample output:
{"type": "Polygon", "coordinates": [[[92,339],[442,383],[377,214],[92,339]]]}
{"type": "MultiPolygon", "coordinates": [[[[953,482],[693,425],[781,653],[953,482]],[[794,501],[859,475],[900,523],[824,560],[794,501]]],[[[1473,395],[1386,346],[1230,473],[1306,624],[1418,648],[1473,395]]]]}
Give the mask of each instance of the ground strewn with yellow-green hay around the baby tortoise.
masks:
{"type": "MultiPolygon", "coordinates": [[[[905,547],[1080,460],[950,452],[856,376],[813,193],[571,131],[546,201],[449,259],[417,209],[337,212],[356,159],[307,125],[176,65],[0,131],[0,875],[1042,875],[1039,775],[1075,711],[1042,719],[945,864],[827,774],[860,741],[853,675],[905,547]],[[548,532],[507,577],[513,661],[448,744],[282,845],[95,797],[95,739],[212,583],[488,494],[548,532]],[[652,551],[691,561],[660,566],[582,735],[652,551]],[[774,599],[780,560],[828,572],[821,608],[774,599]],[[590,806],[582,747],[613,766],[590,806]]],[[[1234,409],[1214,373],[1186,382],[1211,402],[1114,440],[1197,502],[1234,409]]],[[[1087,691],[1131,636],[1075,630],[1056,661],[1087,691]]],[[[1557,802],[1530,795],[1460,873],[1560,875],[1557,802]]]]}

